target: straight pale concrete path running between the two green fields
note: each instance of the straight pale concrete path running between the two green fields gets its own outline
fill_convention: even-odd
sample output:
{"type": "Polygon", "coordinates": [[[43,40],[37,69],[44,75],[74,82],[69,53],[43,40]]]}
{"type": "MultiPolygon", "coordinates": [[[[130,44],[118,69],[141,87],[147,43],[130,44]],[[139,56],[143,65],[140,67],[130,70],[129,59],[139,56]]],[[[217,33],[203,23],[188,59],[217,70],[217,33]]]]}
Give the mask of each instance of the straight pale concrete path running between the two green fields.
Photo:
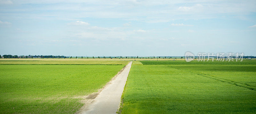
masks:
{"type": "Polygon", "coordinates": [[[100,92],[84,111],[81,111],[81,114],[116,114],[131,66],[132,61],[100,92]]]}

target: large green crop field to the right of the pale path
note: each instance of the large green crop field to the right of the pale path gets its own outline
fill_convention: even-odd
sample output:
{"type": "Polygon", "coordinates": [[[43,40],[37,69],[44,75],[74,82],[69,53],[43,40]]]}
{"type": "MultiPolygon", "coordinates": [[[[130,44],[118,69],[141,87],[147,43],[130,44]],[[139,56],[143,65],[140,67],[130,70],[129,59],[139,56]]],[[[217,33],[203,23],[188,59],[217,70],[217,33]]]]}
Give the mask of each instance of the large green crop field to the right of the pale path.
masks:
{"type": "Polygon", "coordinates": [[[254,60],[194,61],[191,65],[182,61],[140,62],[143,65],[133,64],[130,70],[122,114],[256,112],[254,60]]]}

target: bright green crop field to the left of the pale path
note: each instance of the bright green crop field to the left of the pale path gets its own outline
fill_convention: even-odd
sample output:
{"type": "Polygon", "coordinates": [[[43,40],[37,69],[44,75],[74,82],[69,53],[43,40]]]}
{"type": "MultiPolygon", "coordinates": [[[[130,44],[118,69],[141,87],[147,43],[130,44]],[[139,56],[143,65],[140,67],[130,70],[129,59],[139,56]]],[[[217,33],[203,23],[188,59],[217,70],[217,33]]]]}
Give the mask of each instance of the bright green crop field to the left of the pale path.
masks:
{"type": "MultiPolygon", "coordinates": [[[[74,64],[74,61],[40,62],[42,61],[1,61],[0,113],[75,113],[82,107],[83,103],[80,100],[84,96],[97,92],[124,67],[124,65],[18,65],[63,64],[63,62],[74,64]]],[[[79,62],[126,63],[126,61],[79,62]]]]}

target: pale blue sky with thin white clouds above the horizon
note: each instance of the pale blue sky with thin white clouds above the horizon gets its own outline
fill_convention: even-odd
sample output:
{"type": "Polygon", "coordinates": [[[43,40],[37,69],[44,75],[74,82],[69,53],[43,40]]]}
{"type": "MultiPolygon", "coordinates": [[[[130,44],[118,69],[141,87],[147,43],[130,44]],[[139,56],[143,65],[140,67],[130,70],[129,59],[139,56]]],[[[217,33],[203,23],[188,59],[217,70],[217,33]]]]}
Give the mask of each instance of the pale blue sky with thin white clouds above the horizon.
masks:
{"type": "Polygon", "coordinates": [[[0,55],[256,56],[256,0],[0,0],[0,55]]]}

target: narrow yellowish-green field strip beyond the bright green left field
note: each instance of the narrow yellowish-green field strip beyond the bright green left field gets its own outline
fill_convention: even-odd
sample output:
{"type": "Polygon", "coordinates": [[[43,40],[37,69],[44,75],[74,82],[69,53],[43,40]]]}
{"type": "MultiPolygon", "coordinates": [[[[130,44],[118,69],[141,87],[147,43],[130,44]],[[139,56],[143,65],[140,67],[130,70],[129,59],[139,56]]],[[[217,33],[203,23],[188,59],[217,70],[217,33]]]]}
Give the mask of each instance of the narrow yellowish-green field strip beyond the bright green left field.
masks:
{"type": "Polygon", "coordinates": [[[111,60],[1,60],[0,64],[111,64],[111,65],[126,65],[129,61],[111,61],[111,60]]]}

